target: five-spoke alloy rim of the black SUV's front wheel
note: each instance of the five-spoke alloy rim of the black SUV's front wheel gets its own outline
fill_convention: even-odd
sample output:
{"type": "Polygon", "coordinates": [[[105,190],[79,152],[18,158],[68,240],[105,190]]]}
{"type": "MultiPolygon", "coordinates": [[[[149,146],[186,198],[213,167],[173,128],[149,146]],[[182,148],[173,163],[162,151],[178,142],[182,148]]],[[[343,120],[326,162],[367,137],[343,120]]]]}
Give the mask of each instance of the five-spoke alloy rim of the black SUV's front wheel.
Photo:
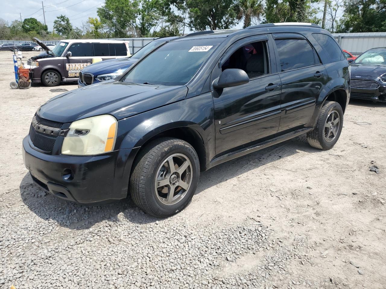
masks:
{"type": "Polygon", "coordinates": [[[189,158],[181,153],[168,156],[157,170],[155,193],[164,205],[181,201],[192,182],[192,165],[189,158]]]}

